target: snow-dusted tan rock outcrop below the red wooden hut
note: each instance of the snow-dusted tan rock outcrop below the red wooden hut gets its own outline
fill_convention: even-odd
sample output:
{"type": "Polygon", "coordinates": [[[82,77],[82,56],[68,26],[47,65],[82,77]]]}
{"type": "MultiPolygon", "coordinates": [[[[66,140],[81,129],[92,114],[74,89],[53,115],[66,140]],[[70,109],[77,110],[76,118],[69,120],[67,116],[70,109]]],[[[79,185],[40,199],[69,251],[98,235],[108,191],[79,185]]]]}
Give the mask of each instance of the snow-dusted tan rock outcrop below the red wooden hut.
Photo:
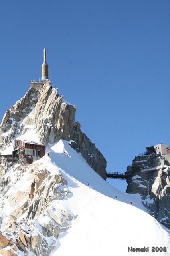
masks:
{"type": "Polygon", "coordinates": [[[59,234],[71,227],[76,216],[51,204],[70,194],[67,180],[52,169],[52,163],[45,168],[35,162],[27,168],[1,162],[0,255],[47,256],[59,234]]]}

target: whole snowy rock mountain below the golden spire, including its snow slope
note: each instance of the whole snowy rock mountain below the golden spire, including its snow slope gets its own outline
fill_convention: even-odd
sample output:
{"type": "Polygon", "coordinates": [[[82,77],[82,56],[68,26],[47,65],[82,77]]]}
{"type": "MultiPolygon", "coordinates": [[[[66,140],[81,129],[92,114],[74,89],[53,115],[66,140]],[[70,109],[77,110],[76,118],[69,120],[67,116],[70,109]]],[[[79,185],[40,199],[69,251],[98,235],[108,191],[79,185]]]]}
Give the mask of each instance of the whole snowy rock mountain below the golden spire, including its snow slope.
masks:
{"type": "Polygon", "coordinates": [[[30,88],[4,115],[0,255],[153,255],[156,248],[168,256],[169,230],[146,212],[139,194],[105,181],[106,160],[74,116],[75,106],[50,81],[30,88]],[[28,152],[38,160],[29,164],[28,152]]]}

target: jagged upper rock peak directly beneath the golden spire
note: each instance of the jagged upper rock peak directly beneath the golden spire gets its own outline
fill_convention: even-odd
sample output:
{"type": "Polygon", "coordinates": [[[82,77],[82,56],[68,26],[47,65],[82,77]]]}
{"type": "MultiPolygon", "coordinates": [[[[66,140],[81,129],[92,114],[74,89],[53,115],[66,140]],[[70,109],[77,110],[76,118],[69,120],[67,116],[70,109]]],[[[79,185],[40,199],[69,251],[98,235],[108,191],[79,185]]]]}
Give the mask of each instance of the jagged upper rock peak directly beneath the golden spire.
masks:
{"type": "Polygon", "coordinates": [[[44,84],[42,90],[31,87],[4,114],[0,125],[2,150],[15,137],[28,130],[35,130],[45,147],[61,138],[70,141],[71,146],[82,154],[87,163],[106,179],[106,160],[95,144],[81,132],[80,124],[74,119],[75,111],[75,106],[64,102],[63,95],[59,96],[57,88],[52,88],[51,82],[44,84]]]}

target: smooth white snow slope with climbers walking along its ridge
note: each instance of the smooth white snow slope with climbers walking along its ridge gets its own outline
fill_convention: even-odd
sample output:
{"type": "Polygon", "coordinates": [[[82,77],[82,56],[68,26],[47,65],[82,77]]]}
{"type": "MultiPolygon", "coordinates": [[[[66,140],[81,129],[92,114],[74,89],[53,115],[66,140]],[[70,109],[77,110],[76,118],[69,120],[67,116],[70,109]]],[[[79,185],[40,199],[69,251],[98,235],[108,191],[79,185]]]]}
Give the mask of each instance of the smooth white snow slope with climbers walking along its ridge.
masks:
{"type": "Polygon", "coordinates": [[[170,231],[144,211],[139,195],[110,186],[68,142],[60,140],[47,151],[49,157],[45,155],[39,160],[42,168],[51,172],[57,168],[71,191],[67,200],[53,201],[51,207],[76,216],[71,228],[59,236],[57,250],[50,256],[138,255],[140,252],[128,252],[128,247],[136,250],[144,246],[146,255],[170,255],[170,231]],[[118,200],[113,199],[115,195],[118,200]],[[166,252],[151,252],[152,247],[166,252]]]}

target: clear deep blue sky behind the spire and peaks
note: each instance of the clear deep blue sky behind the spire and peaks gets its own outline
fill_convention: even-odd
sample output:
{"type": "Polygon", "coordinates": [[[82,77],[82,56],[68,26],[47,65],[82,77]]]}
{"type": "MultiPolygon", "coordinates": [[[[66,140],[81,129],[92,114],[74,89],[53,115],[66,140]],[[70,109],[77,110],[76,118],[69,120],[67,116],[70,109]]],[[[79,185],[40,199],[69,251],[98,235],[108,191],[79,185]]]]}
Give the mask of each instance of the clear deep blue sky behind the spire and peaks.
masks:
{"type": "Polygon", "coordinates": [[[41,78],[45,47],[49,79],[107,171],[124,172],[146,146],[170,146],[169,0],[7,0],[0,10],[0,120],[41,78]]]}

